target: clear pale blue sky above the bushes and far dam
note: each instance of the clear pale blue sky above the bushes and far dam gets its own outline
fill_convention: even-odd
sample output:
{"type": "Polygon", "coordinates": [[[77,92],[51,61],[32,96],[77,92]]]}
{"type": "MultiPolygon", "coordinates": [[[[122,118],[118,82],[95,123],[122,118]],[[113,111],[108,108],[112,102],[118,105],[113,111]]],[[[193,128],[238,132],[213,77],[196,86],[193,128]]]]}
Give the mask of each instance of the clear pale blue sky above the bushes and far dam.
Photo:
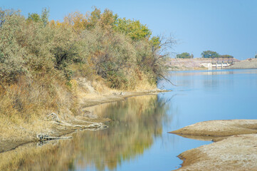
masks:
{"type": "MultiPolygon", "coordinates": [[[[50,9],[50,20],[63,21],[74,11],[110,9],[121,18],[140,20],[152,35],[174,36],[174,53],[216,51],[243,60],[257,53],[257,0],[0,0],[2,9],[21,14],[41,14],[50,9]]],[[[174,57],[174,56],[173,56],[174,57]]]]}

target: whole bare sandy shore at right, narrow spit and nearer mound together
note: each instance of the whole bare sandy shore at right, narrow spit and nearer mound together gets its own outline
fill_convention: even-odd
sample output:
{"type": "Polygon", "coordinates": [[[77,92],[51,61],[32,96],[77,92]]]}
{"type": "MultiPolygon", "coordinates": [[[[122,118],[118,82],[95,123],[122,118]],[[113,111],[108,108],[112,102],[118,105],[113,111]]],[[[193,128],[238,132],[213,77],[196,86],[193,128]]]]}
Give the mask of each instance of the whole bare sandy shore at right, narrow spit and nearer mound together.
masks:
{"type": "Polygon", "coordinates": [[[257,120],[210,120],[170,133],[216,141],[182,152],[179,170],[257,170],[257,120]]]}

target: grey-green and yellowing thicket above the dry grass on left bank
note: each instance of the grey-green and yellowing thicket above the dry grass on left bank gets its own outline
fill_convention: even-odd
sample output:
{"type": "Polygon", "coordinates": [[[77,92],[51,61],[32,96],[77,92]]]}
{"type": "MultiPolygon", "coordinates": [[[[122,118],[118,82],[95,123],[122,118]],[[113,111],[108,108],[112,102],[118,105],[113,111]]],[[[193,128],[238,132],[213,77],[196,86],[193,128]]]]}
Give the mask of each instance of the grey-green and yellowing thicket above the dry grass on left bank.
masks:
{"type": "Polygon", "coordinates": [[[164,72],[167,57],[167,53],[160,51],[174,43],[162,43],[160,37],[150,38],[151,31],[146,25],[120,19],[109,10],[75,12],[65,16],[62,23],[48,22],[46,9],[41,16],[29,14],[27,19],[19,11],[0,13],[1,83],[13,83],[19,76],[33,73],[58,73],[67,81],[74,74],[95,74],[112,88],[128,88],[142,74],[155,84],[164,72]]]}

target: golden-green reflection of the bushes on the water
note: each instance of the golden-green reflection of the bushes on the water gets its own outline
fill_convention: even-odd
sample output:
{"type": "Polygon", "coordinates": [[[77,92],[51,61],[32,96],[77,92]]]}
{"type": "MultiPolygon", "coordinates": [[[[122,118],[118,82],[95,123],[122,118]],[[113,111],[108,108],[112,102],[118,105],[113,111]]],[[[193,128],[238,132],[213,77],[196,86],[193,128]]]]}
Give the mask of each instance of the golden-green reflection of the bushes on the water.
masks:
{"type": "Polygon", "coordinates": [[[0,154],[0,170],[115,170],[151,147],[168,122],[167,99],[157,95],[128,98],[88,108],[111,118],[109,128],[73,134],[73,140],[28,145],[0,154]]]}

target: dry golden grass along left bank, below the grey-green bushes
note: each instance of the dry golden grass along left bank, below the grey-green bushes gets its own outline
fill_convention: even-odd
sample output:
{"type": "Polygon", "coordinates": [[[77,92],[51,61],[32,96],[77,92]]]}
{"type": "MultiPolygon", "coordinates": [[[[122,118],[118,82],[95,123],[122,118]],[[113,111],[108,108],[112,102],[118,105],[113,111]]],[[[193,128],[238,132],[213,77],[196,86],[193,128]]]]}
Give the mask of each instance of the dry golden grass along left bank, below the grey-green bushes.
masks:
{"type": "MultiPolygon", "coordinates": [[[[4,140],[34,140],[37,133],[51,132],[53,125],[46,115],[57,113],[61,120],[72,120],[82,114],[81,104],[89,100],[115,99],[115,90],[95,76],[93,81],[74,78],[67,86],[54,76],[21,76],[17,83],[0,88],[0,138],[4,140]]],[[[134,91],[152,90],[143,74],[137,75],[134,91]],[[140,76],[140,78],[139,78],[140,76]]]]}

